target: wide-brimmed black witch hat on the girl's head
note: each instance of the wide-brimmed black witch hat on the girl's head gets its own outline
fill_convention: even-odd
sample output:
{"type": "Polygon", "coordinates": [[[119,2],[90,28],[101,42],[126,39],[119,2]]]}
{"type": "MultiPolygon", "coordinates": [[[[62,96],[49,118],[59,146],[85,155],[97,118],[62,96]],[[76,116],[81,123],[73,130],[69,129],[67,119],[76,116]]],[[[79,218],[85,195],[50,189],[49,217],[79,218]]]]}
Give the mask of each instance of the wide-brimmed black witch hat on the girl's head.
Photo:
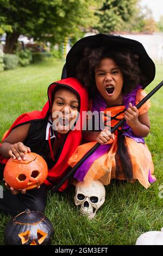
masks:
{"type": "Polygon", "coordinates": [[[127,49],[139,56],[139,66],[142,74],[147,78],[147,83],[143,86],[145,88],[154,80],[155,77],[155,64],[148,56],[143,45],[136,40],[124,38],[120,35],[106,35],[97,34],[86,36],[76,42],[68,52],[66,57],[66,65],[63,68],[62,76],[76,77],[76,66],[83,57],[83,52],[86,47],[98,48],[108,47],[118,49],[127,49]]]}

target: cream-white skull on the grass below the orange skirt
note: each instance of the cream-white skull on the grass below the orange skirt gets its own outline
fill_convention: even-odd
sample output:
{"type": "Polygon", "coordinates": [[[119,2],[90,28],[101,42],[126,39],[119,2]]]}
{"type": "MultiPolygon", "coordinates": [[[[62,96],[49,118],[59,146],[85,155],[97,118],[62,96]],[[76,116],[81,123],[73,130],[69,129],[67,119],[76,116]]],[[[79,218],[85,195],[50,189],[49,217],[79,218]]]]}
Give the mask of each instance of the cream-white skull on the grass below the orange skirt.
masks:
{"type": "Polygon", "coordinates": [[[80,205],[82,215],[90,219],[105,202],[105,188],[98,180],[82,181],[76,184],[74,203],[80,205]]]}

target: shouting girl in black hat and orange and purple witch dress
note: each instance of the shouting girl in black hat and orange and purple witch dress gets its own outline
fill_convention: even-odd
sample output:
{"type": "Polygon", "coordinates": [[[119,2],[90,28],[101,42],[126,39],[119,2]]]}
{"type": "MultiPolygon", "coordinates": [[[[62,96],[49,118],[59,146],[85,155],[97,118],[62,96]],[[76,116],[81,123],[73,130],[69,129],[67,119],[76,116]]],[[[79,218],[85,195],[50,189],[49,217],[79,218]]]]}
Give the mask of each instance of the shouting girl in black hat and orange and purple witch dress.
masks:
{"type": "MultiPolygon", "coordinates": [[[[139,180],[148,188],[155,181],[154,166],[143,137],[150,131],[151,105],[147,101],[139,110],[135,105],[146,96],[143,89],[154,79],[153,61],[140,42],[104,34],[88,36],[72,47],[66,60],[67,75],[74,72],[72,60],[78,63],[73,76],[90,88],[90,110],[101,112],[105,124],[102,131],[84,131],[89,143],[76,149],[68,161],[71,167],[97,142],[101,145],[77,169],[74,178],[99,180],[103,185],[111,179],[139,180]],[[115,126],[122,118],[126,123],[111,134],[109,125],[115,126]]],[[[88,124],[90,121],[91,117],[88,124]]],[[[98,120],[94,121],[97,124],[98,120]]]]}

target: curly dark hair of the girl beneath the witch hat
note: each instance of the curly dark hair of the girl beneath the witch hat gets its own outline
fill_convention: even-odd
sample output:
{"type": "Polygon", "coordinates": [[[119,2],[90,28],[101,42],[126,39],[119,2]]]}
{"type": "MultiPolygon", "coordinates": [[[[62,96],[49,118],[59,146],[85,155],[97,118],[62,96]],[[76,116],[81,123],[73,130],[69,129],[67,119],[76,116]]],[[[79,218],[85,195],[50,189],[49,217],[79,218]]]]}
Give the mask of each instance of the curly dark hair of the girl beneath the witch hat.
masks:
{"type": "Polygon", "coordinates": [[[89,88],[89,94],[92,97],[96,92],[95,67],[101,59],[114,59],[123,74],[122,94],[130,93],[137,84],[146,84],[147,78],[142,74],[139,67],[139,56],[127,49],[111,48],[89,48],[86,47],[83,52],[83,58],[76,68],[77,78],[89,88]]]}

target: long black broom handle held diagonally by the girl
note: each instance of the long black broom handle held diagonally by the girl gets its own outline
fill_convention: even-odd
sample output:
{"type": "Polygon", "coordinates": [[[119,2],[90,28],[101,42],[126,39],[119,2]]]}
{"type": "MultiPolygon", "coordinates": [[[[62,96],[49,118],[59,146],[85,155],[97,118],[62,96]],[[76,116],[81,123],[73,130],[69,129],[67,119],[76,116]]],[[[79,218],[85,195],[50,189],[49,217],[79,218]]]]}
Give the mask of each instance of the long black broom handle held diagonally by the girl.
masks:
{"type": "MultiPolygon", "coordinates": [[[[158,86],[156,86],[150,93],[148,93],[146,95],[146,97],[144,97],[137,105],[136,105],[136,108],[139,109],[150,97],[152,97],[163,85],[163,81],[161,81],[158,86]]],[[[123,118],[121,121],[119,121],[114,127],[112,127],[111,129],[111,133],[114,133],[119,127],[121,127],[124,123],[125,118],[123,118]]],[[[80,159],[80,161],[76,164],[76,166],[74,166],[70,172],[68,172],[59,182],[56,186],[54,186],[52,188],[52,191],[55,192],[57,191],[60,186],[62,184],[64,184],[64,182],[70,178],[75,172],[76,170],[81,166],[81,164],[93,153],[95,152],[95,150],[100,146],[101,144],[100,143],[96,143],[93,148],[90,149],[90,151],[88,153],[86,153],[86,155],[80,159]]]]}

